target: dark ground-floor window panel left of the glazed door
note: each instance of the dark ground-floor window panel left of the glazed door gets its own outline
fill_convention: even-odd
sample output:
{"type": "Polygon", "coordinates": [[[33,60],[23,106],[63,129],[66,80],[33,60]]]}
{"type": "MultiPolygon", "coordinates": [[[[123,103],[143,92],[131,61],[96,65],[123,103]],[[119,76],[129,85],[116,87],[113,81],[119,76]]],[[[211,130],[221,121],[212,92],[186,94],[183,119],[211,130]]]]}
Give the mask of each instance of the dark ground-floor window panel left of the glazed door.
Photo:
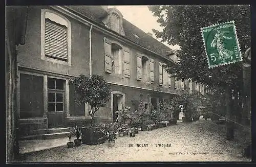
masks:
{"type": "Polygon", "coordinates": [[[19,78],[20,118],[35,118],[44,115],[44,78],[20,74],[19,78]]]}

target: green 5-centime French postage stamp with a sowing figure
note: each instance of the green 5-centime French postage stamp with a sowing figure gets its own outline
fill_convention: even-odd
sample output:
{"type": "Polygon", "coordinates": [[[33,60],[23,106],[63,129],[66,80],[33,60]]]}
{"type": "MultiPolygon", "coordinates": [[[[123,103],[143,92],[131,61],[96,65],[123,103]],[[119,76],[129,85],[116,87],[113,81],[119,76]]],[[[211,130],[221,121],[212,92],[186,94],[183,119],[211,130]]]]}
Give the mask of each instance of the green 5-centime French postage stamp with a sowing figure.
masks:
{"type": "Polygon", "coordinates": [[[234,21],[201,28],[208,67],[242,61],[234,21]]]}

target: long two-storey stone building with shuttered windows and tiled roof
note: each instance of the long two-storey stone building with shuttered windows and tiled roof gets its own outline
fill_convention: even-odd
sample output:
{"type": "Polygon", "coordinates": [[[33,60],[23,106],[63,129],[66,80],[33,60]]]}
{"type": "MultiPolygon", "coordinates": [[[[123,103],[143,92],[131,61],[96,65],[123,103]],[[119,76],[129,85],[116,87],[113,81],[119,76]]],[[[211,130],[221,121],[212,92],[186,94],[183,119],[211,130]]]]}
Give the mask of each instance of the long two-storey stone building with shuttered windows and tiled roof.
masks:
{"type": "MultiPolygon", "coordinates": [[[[12,8],[12,7],[9,7],[12,8]]],[[[113,122],[124,106],[150,109],[180,91],[204,94],[205,85],[170,77],[163,64],[173,50],[106,6],[30,6],[26,43],[17,46],[17,120],[20,139],[51,138],[74,124],[87,126],[88,105],[74,102],[70,80],[104,76],[113,90],[99,122],[113,122]]]]}

